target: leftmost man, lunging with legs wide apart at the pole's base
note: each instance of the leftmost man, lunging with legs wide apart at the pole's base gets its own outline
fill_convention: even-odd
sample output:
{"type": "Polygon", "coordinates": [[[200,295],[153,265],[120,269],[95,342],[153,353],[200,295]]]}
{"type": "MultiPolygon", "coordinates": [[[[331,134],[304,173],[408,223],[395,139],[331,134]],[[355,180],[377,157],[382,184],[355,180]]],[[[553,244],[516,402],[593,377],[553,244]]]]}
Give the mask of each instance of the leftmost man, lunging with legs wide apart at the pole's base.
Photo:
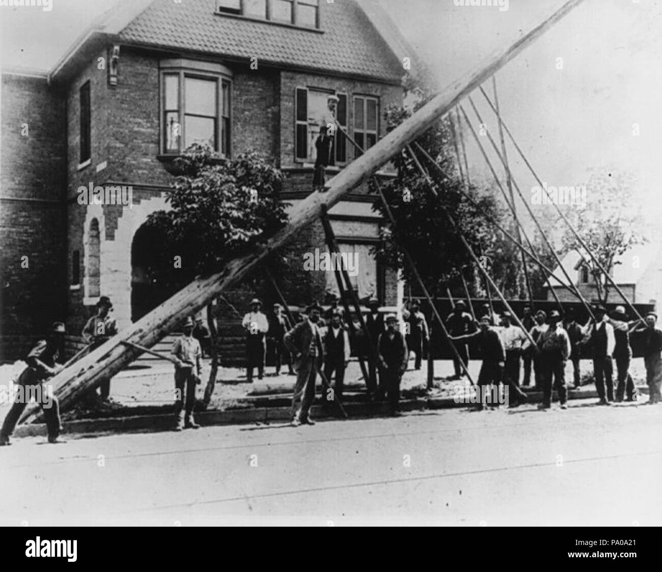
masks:
{"type": "Polygon", "coordinates": [[[30,397],[33,395],[40,396],[37,401],[44,412],[46,428],[48,428],[48,442],[57,442],[62,431],[60,403],[54,395],[47,395],[44,381],[53,377],[62,369],[62,365],[57,363],[57,360],[64,343],[64,334],[64,324],[54,322],[48,338],[39,340],[25,359],[28,367],[21,372],[19,379],[15,382],[15,385],[19,385],[23,389],[23,397],[14,401],[5,417],[0,429],[0,446],[10,445],[9,437],[14,432],[25,406],[28,405],[30,397]]]}

